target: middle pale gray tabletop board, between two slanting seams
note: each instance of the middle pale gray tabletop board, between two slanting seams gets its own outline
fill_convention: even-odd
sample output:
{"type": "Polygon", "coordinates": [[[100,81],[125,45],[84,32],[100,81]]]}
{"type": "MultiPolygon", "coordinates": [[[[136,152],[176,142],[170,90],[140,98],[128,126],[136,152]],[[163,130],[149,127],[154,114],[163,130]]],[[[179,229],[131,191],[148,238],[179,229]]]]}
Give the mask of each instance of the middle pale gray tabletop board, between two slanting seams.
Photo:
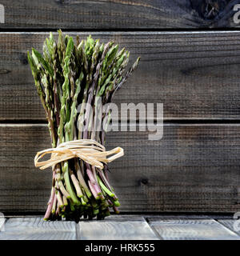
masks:
{"type": "Polygon", "coordinates": [[[78,222],[80,240],[158,240],[144,218],[108,218],[106,221],[78,222]]]}

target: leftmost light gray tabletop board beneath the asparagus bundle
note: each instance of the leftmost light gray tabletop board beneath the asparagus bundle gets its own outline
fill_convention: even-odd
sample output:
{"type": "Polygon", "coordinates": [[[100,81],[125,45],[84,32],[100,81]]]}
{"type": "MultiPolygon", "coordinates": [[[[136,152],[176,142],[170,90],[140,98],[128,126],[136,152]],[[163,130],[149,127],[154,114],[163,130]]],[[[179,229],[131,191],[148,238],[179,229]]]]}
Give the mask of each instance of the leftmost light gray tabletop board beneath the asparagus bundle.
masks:
{"type": "Polygon", "coordinates": [[[42,218],[10,218],[0,240],[74,240],[75,222],[45,222],[42,218]]]}

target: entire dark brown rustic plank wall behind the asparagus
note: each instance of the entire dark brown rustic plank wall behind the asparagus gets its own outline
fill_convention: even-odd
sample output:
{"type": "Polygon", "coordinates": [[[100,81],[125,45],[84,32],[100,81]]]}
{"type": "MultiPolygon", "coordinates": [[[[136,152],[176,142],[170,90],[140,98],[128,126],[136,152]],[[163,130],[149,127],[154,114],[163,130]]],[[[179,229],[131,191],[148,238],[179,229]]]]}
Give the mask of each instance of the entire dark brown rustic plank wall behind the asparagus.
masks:
{"type": "MultiPolygon", "coordinates": [[[[126,212],[240,210],[240,31],[230,0],[1,0],[0,211],[43,212],[50,170],[34,154],[50,146],[26,50],[49,31],[114,38],[142,62],[115,102],[163,102],[164,135],[108,135],[126,156],[110,179],[126,212]]],[[[156,118],[153,116],[152,118],[156,118]]]]}

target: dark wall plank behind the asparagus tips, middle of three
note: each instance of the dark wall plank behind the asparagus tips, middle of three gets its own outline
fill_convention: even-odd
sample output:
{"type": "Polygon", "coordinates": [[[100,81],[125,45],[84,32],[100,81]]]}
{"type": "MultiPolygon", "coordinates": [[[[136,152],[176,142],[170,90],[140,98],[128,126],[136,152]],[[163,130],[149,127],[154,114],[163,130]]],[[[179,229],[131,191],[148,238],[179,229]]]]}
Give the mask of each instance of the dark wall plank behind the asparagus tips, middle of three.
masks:
{"type": "MultiPolygon", "coordinates": [[[[80,33],[86,38],[89,33],[80,33]]],[[[26,60],[26,50],[41,50],[46,33],[0,34],[0,120],[45,120],[26,60]]],[[[75,35],[73,33],[72,35],[75,35]]],[[[114,39],[142,57],[114,102],[163,103],[164,118],[240,118],[240,32],[92,33],[114,39]]],[[[150,116],[149,118],[153,118],[150,116]]],[[[156,115],[154,116],[156,118],[156,115]]]]}

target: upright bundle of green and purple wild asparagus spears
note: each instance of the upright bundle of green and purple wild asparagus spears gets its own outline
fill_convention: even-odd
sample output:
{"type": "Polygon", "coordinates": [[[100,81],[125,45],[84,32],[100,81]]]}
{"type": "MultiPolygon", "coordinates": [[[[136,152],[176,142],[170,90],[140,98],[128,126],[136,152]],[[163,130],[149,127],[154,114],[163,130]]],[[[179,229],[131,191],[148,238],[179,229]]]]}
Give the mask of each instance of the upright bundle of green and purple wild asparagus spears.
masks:
{"type": "MultiPolygon", "coordinates": [[[[63,37],[61,30],[58,34],[58,42],[53,34],[46,38],[43,55],[35,49],[32,54],[28,52],[52,146],[84,139],[104,146],[110,110],[101,116],[101,121],[107,120],[105,127],[97,129],[99,98],[102,106],[110,103],[138,66],[139,58],[125,72],[130,53],[118,50],[114,42],[100,44],[89,36],[82,41],[77,37],[74,44],[73,38],[63,37]]],[[[44,219],[103,219],[110,215],[111,207],[118,213],[120,203],[110,186],[108,166],[106,162],[102,166],[96,168],[78,157],[53,165],[53,185],[44,219]]]]}

